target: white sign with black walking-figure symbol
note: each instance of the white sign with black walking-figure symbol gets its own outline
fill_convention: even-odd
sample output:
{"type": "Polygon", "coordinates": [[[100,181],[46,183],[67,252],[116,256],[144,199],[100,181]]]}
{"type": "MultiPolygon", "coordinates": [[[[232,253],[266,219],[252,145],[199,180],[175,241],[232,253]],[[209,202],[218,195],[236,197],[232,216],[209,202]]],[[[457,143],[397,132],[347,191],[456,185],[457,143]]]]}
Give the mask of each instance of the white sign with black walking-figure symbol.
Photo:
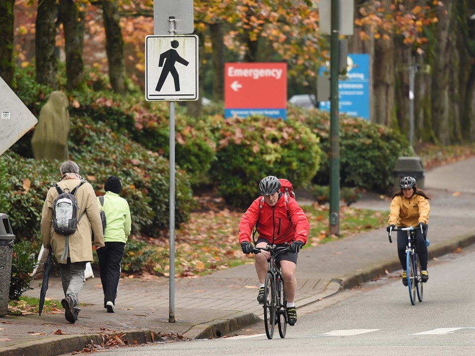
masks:
{"type": "Polygon", "coordinates": [[[145,37],[145,99],[198,99],[198,36],[145,37]]]}

